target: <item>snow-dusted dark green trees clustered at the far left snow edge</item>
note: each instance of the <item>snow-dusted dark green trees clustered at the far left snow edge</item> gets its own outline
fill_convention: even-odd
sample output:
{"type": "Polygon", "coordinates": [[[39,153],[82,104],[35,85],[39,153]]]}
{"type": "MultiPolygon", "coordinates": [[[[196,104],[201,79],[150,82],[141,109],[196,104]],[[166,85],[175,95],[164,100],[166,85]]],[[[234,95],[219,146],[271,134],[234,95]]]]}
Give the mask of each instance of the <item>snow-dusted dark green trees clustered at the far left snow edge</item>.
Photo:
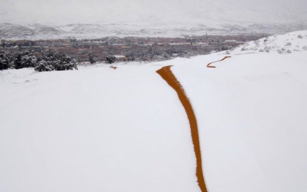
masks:
{"type": "Polygon", "coordinates": [[[35,56],[31,51],[9,53],[0,52],[0,70],[34,68],[35,71],[64,71],[77,70],[75,59],[59,54],[54,50],[47,50],[35,56]]]}

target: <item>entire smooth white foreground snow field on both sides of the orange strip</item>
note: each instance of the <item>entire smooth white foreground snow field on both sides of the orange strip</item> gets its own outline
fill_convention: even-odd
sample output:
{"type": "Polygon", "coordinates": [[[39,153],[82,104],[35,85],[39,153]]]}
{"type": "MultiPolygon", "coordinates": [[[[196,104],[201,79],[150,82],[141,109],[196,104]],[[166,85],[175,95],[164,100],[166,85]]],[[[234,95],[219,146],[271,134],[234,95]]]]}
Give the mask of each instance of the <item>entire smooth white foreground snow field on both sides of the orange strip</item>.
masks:
{"type": "Polygon", "coordinates": [[[156,73],[168,65],[209,192],[305,191],[307,52],[233,52],[214,69],[222,53],[0,71],[0,191],[201,191],[186,113],[156,73]]]}

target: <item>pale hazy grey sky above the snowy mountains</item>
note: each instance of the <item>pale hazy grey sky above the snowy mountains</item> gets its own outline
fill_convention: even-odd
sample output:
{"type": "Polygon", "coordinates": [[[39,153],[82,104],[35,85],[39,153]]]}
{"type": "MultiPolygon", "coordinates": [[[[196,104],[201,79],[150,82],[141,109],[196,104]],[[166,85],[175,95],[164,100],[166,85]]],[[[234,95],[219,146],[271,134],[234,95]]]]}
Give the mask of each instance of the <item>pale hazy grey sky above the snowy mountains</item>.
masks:
{"type": "Polygon", "coordinates": [[[0,22],[15,24],[305,22],[307,0],[0,0],[0,22]]]}

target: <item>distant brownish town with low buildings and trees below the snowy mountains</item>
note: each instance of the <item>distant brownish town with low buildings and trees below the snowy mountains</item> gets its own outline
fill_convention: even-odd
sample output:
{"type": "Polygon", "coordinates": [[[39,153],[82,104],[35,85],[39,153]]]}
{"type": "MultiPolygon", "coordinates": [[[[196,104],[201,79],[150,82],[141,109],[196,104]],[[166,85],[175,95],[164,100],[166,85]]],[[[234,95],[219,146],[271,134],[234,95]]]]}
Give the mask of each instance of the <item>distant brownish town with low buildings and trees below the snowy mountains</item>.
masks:
{"type": "Polygon", "coordinates": [[[109,55],[115,56],[116,61],[157,61],[230,50],[246,41],[266,36],[269,34],[1,40],[0,51],[32,51],[38,55],[51,49],[75,58],[78,63],[105,62],[109,55]]]}

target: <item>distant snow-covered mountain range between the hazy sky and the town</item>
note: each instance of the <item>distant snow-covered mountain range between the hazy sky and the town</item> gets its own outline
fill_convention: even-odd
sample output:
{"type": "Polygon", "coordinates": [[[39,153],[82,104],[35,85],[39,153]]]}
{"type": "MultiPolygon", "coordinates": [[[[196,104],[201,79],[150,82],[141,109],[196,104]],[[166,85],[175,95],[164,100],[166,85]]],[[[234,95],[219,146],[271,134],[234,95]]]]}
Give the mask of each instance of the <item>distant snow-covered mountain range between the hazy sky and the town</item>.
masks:
{"type": "Polygon", "coordinates": [[[291,31],[307,30],[305,24],[71,24],[15,25],[0,23],[2,39],[48,39],[48,38],[99,38],[105,36],[160,36],[179,37],[207,34],[247,34],[269,33],[284,34],[291,31]]]}

